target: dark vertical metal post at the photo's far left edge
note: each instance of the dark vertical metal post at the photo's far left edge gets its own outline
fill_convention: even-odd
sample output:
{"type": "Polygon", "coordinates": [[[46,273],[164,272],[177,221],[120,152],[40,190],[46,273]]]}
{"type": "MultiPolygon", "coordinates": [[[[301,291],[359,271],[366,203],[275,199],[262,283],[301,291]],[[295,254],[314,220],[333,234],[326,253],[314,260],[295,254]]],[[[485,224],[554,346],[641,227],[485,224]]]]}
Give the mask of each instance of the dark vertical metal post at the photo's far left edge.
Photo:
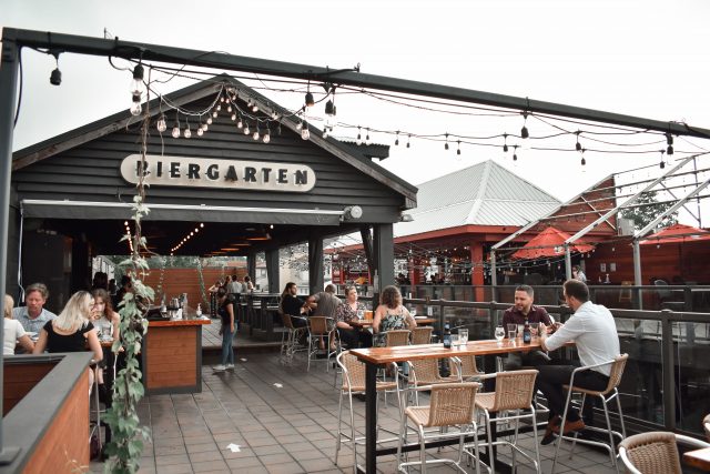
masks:
{"type": "MultiPolygon", "coordinates": [[[[18,81],[19,48],[14,41],[2,42],[0,61],[0,289],[4,292],[8,271],[8,228],[10,226],[10,175],[12,173],[12,129],[14,128],[14,94],[18,81]]],[[[4,297],[0,297],[0,312],[4,314],[4,297]]],[[[0,339],[4,336],[0,324],[0,339]]],[[[4,380],[3,356],[0,354],[0,381],[4,380]]],[[[0,399],[0,413],[2,400],[0,399]]],[[[0,465],[9,464],[20,452],[8,447],[2,440],[0,417],[0,465]]]]}

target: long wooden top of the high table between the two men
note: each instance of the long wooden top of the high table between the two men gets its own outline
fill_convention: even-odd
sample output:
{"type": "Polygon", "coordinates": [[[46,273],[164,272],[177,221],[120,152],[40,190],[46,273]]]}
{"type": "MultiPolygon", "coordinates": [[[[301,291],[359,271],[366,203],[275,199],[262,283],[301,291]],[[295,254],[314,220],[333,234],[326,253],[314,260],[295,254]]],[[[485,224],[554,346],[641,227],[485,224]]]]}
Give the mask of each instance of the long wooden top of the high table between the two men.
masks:
{"type": "Polygon", "coordinates": [[[414,361],[420,359],[444,359],[457,355],[490,355],[507,354],[509,352],[527,352],[540,349],[540,337],[532,337],[529,344],[521,340],[504,340],[500,344],[496,340],[469,341],[466,345],[453,345],[444,349],[443,344],[400,345],[396,347],[354,349],[351,352],[357,359],[373,364],[388,364],[390,362],[414,361]]]}

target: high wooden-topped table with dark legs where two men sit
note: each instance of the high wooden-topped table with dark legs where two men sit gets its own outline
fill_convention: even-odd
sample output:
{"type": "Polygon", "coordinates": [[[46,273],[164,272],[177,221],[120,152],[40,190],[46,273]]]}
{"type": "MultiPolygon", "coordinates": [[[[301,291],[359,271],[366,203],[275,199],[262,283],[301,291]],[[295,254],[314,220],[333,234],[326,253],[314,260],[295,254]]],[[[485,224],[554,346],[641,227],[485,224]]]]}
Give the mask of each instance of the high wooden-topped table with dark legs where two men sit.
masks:
{"type": "MultiPolygon", "coordinates": [[[[392,362],[416,361],[423,359],[447,359],[460,355],[483,355],[484,369],[494,372],[495,362],[489,356],[510,352],[528,352],[541,349],[540,337],[535,336],[529,344],[521,340],[469,341],[466,345],[445,349],[443,344],[400,345],[395,347],[355,349],[351,353],[365,363],[365,472],[377,472],[377,366],[392,362]]],[[[358,471],[362,471],[357,466],[358,471]]]]}

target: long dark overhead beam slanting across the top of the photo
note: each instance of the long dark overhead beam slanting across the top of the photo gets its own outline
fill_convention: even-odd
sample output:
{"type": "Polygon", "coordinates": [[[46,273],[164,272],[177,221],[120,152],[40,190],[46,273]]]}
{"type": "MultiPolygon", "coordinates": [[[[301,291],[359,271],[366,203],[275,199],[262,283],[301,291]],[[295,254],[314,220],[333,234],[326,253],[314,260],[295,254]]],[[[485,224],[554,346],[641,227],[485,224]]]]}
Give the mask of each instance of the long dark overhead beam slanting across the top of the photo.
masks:
{"type": "Polygon", "coordinates": [[[591,120],[595,122],[604,122],[621,127],[653,130],[662,133],[670,132],[676,135],[699,138],[710,137],[710,130],[690,127],[684,123],[643,119],[620,113],[531,100],[529,98],[454,88],[450,85],[433,84],[428,82],[396,79],[384,75],[364,74],[361,73],[357,68],[333,70],[328,67],[323,68],[225,54],[216,51],[189,50],[160,44],[122,41],[118,38],[109,40],[74,34],[49,33],[47,31],[20,30],[14,28],[3,29],[2,42],[3,44],[17,42],[20,47],[28,46],[42,49],[53,48],[80,54],[116,57],[133,60],[142,59],[143,61],[178,63],[192,67],[221,69],[225,71],[253,72],[262,75],[328,81],[358,88],[371,88],[466,103],[501,107],[530,113],[548,113],[577,120],[591,120]]]}

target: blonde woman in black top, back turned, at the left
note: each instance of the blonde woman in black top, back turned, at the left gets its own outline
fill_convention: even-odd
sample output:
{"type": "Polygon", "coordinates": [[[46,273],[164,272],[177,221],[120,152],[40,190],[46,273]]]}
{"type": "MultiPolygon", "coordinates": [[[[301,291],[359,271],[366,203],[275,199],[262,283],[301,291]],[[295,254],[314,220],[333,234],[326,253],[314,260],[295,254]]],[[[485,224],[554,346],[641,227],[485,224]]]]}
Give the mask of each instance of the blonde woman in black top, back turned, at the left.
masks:
{"type": "Polygon", "coordinates": [[[74,293],[59,316],[44,324],[32,353],[81,352],[85,351],[88,343],[94,361],[101,361],[103,351],[91,323],[95,311],[93,303],[93,296],[88,291],[74,293]]]}

